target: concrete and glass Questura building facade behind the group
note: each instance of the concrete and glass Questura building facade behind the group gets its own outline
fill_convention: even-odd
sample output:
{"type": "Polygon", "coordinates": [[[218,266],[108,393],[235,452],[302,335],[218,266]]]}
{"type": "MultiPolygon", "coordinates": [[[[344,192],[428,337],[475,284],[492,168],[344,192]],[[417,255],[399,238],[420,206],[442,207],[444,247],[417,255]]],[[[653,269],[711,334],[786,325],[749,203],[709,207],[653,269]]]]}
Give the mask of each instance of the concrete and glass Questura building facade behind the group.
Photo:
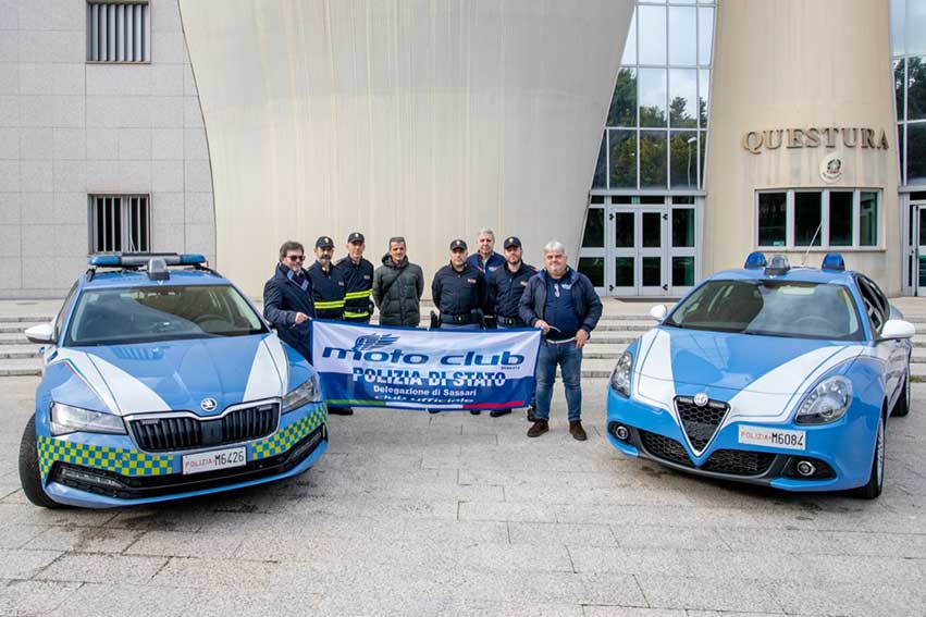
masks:
{"type": "Polygon", "coordinates": [[[917,294],[924,33],[926,0],[15,0],[0,296],[133,249],[259,295],[284,239],[358,230],[430,274],[482,227],[617,297],[756,249],[917,294]]]}

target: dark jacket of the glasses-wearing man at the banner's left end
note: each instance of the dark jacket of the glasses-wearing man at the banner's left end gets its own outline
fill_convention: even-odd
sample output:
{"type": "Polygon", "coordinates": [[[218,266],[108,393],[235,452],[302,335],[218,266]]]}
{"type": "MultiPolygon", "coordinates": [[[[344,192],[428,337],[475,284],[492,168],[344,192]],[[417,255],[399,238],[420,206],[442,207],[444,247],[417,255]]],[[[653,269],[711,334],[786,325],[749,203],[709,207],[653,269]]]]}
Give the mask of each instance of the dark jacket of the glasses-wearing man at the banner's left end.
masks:
{"type": "Polygon", "coordinates": [[[288,268],[279,264],[276,273],[263,286],[263,317],[276,328],[281,341],[299,351],[307,360],[311,358],[309,350],[310,321],[296,323],[296,313],[301,312],[310,318],[316,316],[312,305],[312,285],[308,272],[303,270],[308,286],[303,287],[287,276],[288,268]]]}

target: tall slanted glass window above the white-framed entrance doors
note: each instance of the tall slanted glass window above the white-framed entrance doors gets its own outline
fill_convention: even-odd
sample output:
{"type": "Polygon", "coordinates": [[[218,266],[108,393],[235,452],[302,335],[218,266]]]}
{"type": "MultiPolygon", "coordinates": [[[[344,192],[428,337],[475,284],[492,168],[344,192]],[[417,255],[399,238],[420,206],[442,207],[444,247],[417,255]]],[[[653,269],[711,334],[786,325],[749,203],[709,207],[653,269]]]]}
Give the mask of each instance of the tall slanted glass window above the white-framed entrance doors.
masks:
{"type": "Polygon", "coordinates": [[[714,10],[713,0],[638,0],[593,189],[703,187],[714,10]]]}

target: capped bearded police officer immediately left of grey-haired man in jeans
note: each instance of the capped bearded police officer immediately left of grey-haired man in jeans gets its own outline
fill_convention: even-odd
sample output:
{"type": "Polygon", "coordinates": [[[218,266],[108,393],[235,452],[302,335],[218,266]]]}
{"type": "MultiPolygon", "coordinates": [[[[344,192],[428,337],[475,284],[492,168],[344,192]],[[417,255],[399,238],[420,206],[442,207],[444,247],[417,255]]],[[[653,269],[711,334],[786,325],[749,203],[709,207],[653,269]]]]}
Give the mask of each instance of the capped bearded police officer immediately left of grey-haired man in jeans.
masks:
{"type": "MultiPolygon", "coordinates": [[[[486,275],[489,280],[489,300],[486,312],[495,316],[495,323],[501,329],[529,328],[518,316],[518,305],[521,295],[528,286],[528,280],[538,273],[538,269],[522,261],[523,249],[521,240],[516,236],[505,238],[505,267],[498,268],[492,274],[486,275]]],[[[534,421],[534,404],[531,396],[531,405],[528,408],[528,420],[534,421]]],[[[493,418],[510,414],[510,409],[496,409],[489,415],[493,418]]]]}

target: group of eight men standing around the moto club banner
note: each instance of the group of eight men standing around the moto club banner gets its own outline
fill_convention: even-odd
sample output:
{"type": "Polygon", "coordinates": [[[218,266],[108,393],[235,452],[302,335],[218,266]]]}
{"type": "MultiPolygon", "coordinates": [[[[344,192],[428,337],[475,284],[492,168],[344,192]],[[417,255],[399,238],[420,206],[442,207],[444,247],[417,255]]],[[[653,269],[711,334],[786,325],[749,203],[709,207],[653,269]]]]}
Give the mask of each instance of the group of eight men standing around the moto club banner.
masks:
{"type": "MultiPolygon", "coordinates": [[[[466,240],[449,245],[449,263],[434,274],[431,297],[436,312],[432,329],[481,330],[539,328],[543,342],[536,363],[536,390],[528,408],[528,436],[550,430],[550,406],[556,367],[563,373],[569,432],[579,441],[587,434],[581,422],[582,347],[602,314],[602,301],[584,274],[567,263],[566,247],[551,242],[544,247],[544,267],[538,270],[523,261],[523,247],[516,236],[503,243],[504,256],[495,252],[495,234],[480,231],[477,252],[469,255],[466,240]]],[[[333,262],[334,242],[316,240],[314,263],[306,266],[305,248],[298,242],[280,247],[276,272],[263,288],[264,317],[279,336],[311,361],[309,321],[313,318],[369,323],[379,309],[381,325],[418,326],[424,275],[408,260],[404,237],[390,238],[382,266],[363,258],[363,234],[347,237],[347,256],[333,262]]],[[[335,415],[349,416],[349,407],[329,407],[335,415]]],[[[433,411],[436,412],[436,411],[433,411]]],[[[510,409],[491,411],[493,418],[510,409]]],[[[479,411],[471,411],[478,415],[479,411]]]]}

